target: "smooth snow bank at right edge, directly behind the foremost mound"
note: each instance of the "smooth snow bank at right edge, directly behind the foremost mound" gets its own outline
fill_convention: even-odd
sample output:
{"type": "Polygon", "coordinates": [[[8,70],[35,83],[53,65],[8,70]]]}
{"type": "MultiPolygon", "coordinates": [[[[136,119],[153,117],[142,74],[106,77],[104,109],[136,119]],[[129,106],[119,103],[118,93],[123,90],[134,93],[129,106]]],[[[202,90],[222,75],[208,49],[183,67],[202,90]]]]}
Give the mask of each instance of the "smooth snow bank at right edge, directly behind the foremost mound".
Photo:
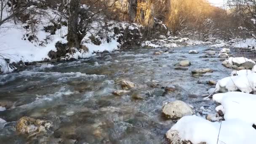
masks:
{"type": "Polygon", "coordinates": [[[256,95],[234,91],[217,93],[213,100],[223,106],[225,120],[240,120],[248,126],[256,124],[256,95]]]}

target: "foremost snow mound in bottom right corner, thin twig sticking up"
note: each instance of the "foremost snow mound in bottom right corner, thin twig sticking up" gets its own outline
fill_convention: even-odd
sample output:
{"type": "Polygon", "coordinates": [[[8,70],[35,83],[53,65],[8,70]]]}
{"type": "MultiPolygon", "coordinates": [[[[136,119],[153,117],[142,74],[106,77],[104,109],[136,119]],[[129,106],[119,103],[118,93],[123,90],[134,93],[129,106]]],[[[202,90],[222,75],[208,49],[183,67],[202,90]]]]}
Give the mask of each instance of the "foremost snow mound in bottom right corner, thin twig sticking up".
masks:
{"type": "Polygon", "coordinates": [[[255,129],[239,120],[228,120],[219,123],[210,122],[195,115],[185,116],[166,133],[168,139],[173,137],[172,131],[178,131],[181,140],[189,140],[193,144],[199,144],[200,142],[216,144],[218,135],[218,144],[254,144],[256,141],[255,129]]]}

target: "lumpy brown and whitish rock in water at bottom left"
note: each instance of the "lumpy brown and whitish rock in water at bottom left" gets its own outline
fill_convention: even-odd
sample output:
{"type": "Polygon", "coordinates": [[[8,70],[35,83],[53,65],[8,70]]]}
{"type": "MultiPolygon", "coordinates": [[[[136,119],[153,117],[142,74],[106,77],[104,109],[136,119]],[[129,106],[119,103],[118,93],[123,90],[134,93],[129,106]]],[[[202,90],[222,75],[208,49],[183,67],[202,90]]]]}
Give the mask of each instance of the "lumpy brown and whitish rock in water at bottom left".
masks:
{"type": "Polygon", "coordinates": [[[51,128],[51,123],[31,117],[21,117],[16,124],[16,131],[21,134],[45,132],[51,128]]]}

